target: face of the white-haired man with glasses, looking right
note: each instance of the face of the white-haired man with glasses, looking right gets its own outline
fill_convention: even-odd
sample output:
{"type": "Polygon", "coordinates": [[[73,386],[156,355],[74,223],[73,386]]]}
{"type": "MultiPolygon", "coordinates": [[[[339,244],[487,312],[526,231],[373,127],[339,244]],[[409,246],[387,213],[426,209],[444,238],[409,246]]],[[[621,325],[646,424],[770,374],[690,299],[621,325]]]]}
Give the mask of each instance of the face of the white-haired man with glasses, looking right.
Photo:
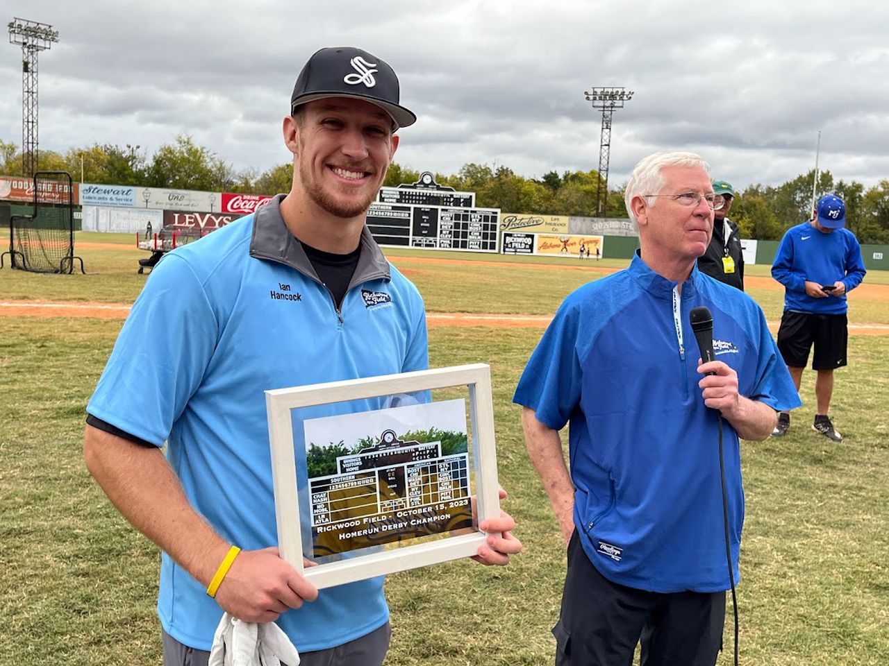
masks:
{"type": "MultiPolygon", "coordinates": [[[[701,167],[667,166],[661,168],[661,176],[661,190],[651,194],[713,193],[707,171],[701,167]]],[[[696,205],[684,206],[670,196],[637,196],[632,205],[639,224],[642,256],[649,266],[683,266],[685,270],[688,265],[690,269],[707,250],[713,234],[713,210],[703,197],[696,205]]],[[[674,272],[673,268],[667,271],[674,272]]]]}

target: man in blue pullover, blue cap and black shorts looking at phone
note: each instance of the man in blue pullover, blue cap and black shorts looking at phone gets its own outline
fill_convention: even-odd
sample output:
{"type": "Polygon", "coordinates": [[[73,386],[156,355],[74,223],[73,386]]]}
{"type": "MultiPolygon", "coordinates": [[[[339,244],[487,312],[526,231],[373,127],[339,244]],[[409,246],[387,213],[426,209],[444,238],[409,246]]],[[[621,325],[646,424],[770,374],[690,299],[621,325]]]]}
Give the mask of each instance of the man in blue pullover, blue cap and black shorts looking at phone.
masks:
{"type": "MultiPolygon", "coordinates": [[[[799,390],[812,346],[815,377],[815,432],[842,441],[828,415],[834,370],[846,364],[848,338],[845,295],[864,280],[864,259],[855,235],[845,229],[845,203],[834,194],[822,196],[811,221],[792,226],[781,239],[772,276],[784,285],[784,313],[778,348],[799,390]]],[[[775,437],[790,427],[782,412],[775,437]]]]}

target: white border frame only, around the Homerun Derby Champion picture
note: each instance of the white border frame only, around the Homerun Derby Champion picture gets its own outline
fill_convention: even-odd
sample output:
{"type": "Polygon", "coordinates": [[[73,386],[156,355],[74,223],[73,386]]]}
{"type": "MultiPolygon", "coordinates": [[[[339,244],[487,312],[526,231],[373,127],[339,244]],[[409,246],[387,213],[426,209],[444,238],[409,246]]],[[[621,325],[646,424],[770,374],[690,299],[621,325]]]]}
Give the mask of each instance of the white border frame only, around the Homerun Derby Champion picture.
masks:
{"type": "Polygon", "coordinates": [[[471,423],[469,447],[472,450],[475,497],[480,523],[488,518],[500,517],[491,370],[487,364],[475,363],[396,375],[364,377],[265,392],[278,549],[281,557],[318,589],[470,557],[485,543],[487,535],[478,530],[471,534],[445,536],[427,543],[414,543],[391,550],[326,562],[315,567],[304,567],[292,409],[454,386],[467,386],[469,389],[471,423]]]}

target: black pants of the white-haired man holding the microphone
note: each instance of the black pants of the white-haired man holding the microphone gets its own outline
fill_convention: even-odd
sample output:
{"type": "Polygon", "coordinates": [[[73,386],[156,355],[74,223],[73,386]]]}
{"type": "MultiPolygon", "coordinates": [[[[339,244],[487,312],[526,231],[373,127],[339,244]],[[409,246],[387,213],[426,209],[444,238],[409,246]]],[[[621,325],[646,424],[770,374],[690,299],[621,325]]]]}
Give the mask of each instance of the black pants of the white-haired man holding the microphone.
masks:
{"type": "Polygon", "coordinates": [[[713,666],[722,649],[725,592],[661,594],[612,583],[592,565],[577,532],[568,545],[556,666],[713,666]]]}

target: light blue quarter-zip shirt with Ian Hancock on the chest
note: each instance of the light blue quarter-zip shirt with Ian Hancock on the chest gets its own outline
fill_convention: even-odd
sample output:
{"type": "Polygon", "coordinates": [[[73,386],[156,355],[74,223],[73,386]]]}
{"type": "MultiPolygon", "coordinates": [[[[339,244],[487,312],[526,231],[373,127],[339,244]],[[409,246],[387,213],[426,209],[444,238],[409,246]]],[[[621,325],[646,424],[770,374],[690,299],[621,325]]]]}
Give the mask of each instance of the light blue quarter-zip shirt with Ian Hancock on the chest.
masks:
{"type": "MultiPolygon", "coordinates": [[[[420,294],[366,227],[361,248],[339,310],[284,226],[278,199],[171,252],[132,306],[87,406],[158,447],[165,440],[188,501],[243,549],[278,543],[266,390],[428,368],[420,294]]],[[[382,402],[294,409],[293,430],[302,431],[303,419],[382,402]]],[[[157,612],[167,633],[201,650],[210,649],[222,615],[165,553],[157,612]]],[[[373,578],[322,590],[277,624],[308,652],[387,620],[383,580],[373,578]]]]}

